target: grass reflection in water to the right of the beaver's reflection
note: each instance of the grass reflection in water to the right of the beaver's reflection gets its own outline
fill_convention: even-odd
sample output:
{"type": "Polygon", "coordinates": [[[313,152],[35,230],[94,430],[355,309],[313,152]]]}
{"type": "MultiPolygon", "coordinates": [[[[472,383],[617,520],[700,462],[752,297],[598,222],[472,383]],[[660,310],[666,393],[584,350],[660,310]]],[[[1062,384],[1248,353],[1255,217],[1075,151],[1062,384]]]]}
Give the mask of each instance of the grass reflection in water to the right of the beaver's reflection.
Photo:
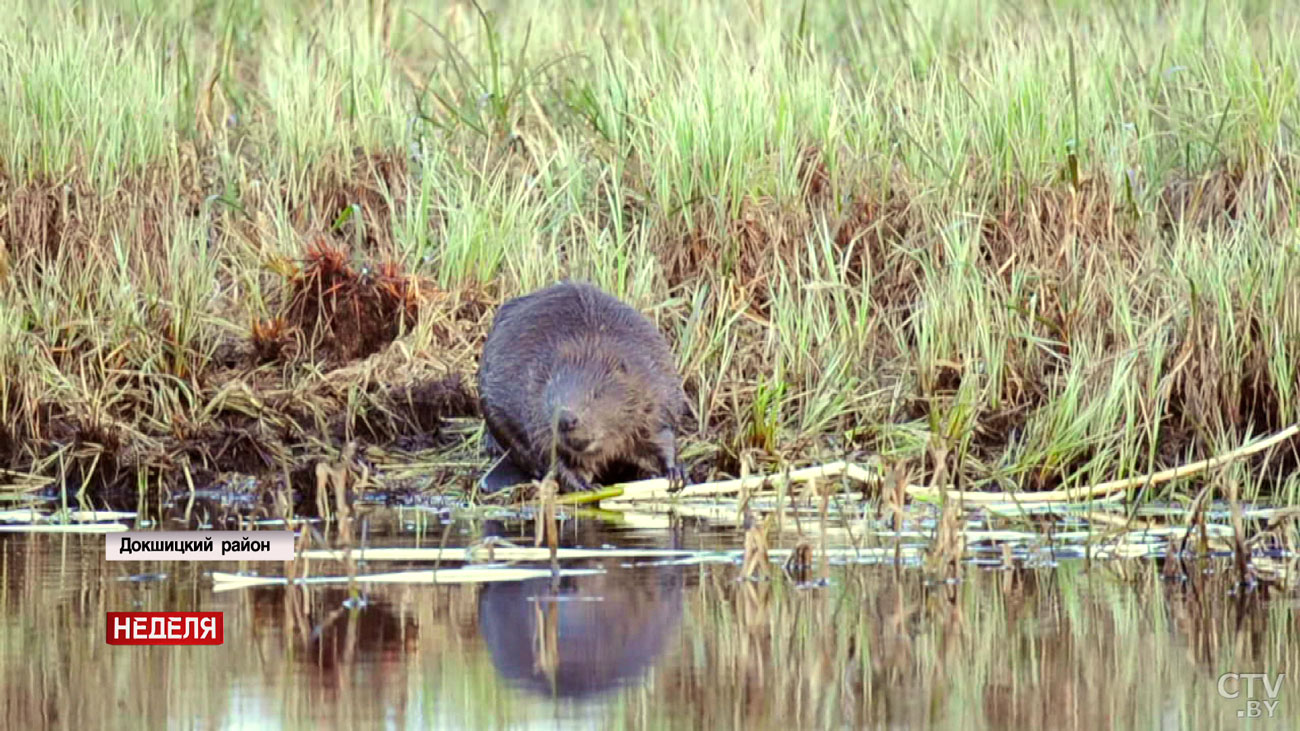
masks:
{"type": "Polygon", "coordinates": [[[680,697],[667,718],[698,713],[708,727],[1149,727],[1170,713],[1204,727],[1235,713],[1216,695],[1221,671],[1295,667],[1280,607],[1239,626],[1225,583],[1195,602],[1154,568],[1127,567],[970,570],[956,588],[863,571],[766,594],[706,581],[688,602],[693,666],[664,669],[628,718],[680,697]]]}

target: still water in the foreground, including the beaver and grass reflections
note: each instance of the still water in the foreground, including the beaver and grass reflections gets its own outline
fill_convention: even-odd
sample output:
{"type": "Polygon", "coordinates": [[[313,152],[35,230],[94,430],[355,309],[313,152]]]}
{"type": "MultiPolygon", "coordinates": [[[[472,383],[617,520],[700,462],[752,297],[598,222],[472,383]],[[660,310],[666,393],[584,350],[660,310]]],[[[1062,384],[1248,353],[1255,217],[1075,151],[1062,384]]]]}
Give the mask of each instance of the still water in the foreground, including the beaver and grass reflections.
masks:
{"type": "MultiPolygon", "coordinates": [[[[564,545],[737,549],[737,531],[578,520],[564,545]]],[[[447,545],[484,525],[454,524],[447,545]]],[[[526,528],[494,525],[521,545],[526,528]],[[511,531],[515,533],[512,535],[511,531]]],[[[376,546],[437,546],[396,516],[376,546]]],[[[109,537],[112,540],[112,536],[109,537]]],[[[1294,728],[1295,591],[1231,563],[606,559],[559,580],[218,588],[281,565],[104,561],[104,536],[0,533],[3,728],[1294,728]],[[105,613],[225,613],[221,646],[110,646],[105,613]],[[1266,672],[1253,695],[1225,672],[1266,672]],[[1235,697],[1225,697],[1235,695],[1235,697]],[[1252,704],[1252,701],[1258,701],[1252,704]],[[1273,702],[1268,718],[1265,702],[1273,702]],[[1253,709],[1253,710],[1252,710],[1253,709]],[[1252,721],[1251,714],[1262,718],[1252,721]]],[[[780,541],[774,542],[775,545],[780,541]]],[[[788,544],[785,544],[788,545],[788,544]]],[[[363,565],[393,571],[428,565],[363,565]]],[[[313,561],[312,575],[341,574],[313,561]]]]}

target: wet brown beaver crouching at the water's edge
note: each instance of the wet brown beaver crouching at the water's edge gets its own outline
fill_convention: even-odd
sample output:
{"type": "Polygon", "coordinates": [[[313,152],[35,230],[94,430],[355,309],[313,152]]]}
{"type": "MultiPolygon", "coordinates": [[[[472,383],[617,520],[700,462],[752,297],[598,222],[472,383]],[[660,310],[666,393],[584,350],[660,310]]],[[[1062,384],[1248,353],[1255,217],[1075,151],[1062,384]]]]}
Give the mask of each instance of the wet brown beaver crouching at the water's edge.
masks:
{"type": "Polygon", "coordinates": [[[494,489],[554,468],[562,492],[666,476],[685,484],[676,437],[686,398],[668,342],[597,286],[562,281],[502,304],[478,363],[494,489]]]}

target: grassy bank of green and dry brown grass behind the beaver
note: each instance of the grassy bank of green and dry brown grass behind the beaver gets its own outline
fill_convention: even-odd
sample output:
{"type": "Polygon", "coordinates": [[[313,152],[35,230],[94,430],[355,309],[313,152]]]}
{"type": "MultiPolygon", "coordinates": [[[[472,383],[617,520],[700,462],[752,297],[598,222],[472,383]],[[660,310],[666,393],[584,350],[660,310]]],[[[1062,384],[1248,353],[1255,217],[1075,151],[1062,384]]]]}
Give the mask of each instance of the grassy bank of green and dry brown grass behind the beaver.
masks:
{"type": "MultiPolygon", "coordinates": [[[[20,3],[0,489],[472,475],[493,307],[560,276],[668,333],[696,479],[1043,489],[1297,419],[1300,10],[833,5],[20,3]]],[[[1295,502],[1297,450],[1212,477],[1295,502]]]]}

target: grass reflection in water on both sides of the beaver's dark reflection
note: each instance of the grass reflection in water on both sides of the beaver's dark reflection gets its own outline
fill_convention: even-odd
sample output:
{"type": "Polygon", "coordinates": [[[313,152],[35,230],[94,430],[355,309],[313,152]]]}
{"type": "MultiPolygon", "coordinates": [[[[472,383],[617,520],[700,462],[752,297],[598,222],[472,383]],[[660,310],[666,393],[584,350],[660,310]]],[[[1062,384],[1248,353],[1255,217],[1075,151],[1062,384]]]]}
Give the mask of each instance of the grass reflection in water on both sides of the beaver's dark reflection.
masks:
{"type": "MultiPolygon", "coordinates": [[[[1226,562],[1195,588],[1141,562],[967,567],[956,585],[918,571],[835,568],[819,591],[737,583],[733,567],[708,566],[690,571],[682,632],[668,637],[649,684],[607,696],[608,705],[555,711],[500,683],[478,635],[474,588],[377,588],[378,602],[359,614],[339,611],[342,591],[308,589],[306,627],[322,636],[308,644],[302,626],[287,624],[278,588],[213,597],[199,576],[208,567],[105,565],[98,537],[3,545],[6,728],[56,715],[70,727],[220,724],[250,709],[294,728],[389,715],[497,727],[552,713],[760,728],[1150,727],[1171,713],[1204,727],[1238,708],[1218,698],[1219,672],[1290,675],[1300,661],[1287,600],[1261,607],[1230,596],[1226,562]],[[136,585],[117,581],[118,571],[169,578],[136,585]],[[134,600],[144,610],[224,610],[226,645],[104,645],[103,613],[134,600]]],[[[1283,693],[1282,708],[1300,702],[1295,685],[1283,693]]]]}

